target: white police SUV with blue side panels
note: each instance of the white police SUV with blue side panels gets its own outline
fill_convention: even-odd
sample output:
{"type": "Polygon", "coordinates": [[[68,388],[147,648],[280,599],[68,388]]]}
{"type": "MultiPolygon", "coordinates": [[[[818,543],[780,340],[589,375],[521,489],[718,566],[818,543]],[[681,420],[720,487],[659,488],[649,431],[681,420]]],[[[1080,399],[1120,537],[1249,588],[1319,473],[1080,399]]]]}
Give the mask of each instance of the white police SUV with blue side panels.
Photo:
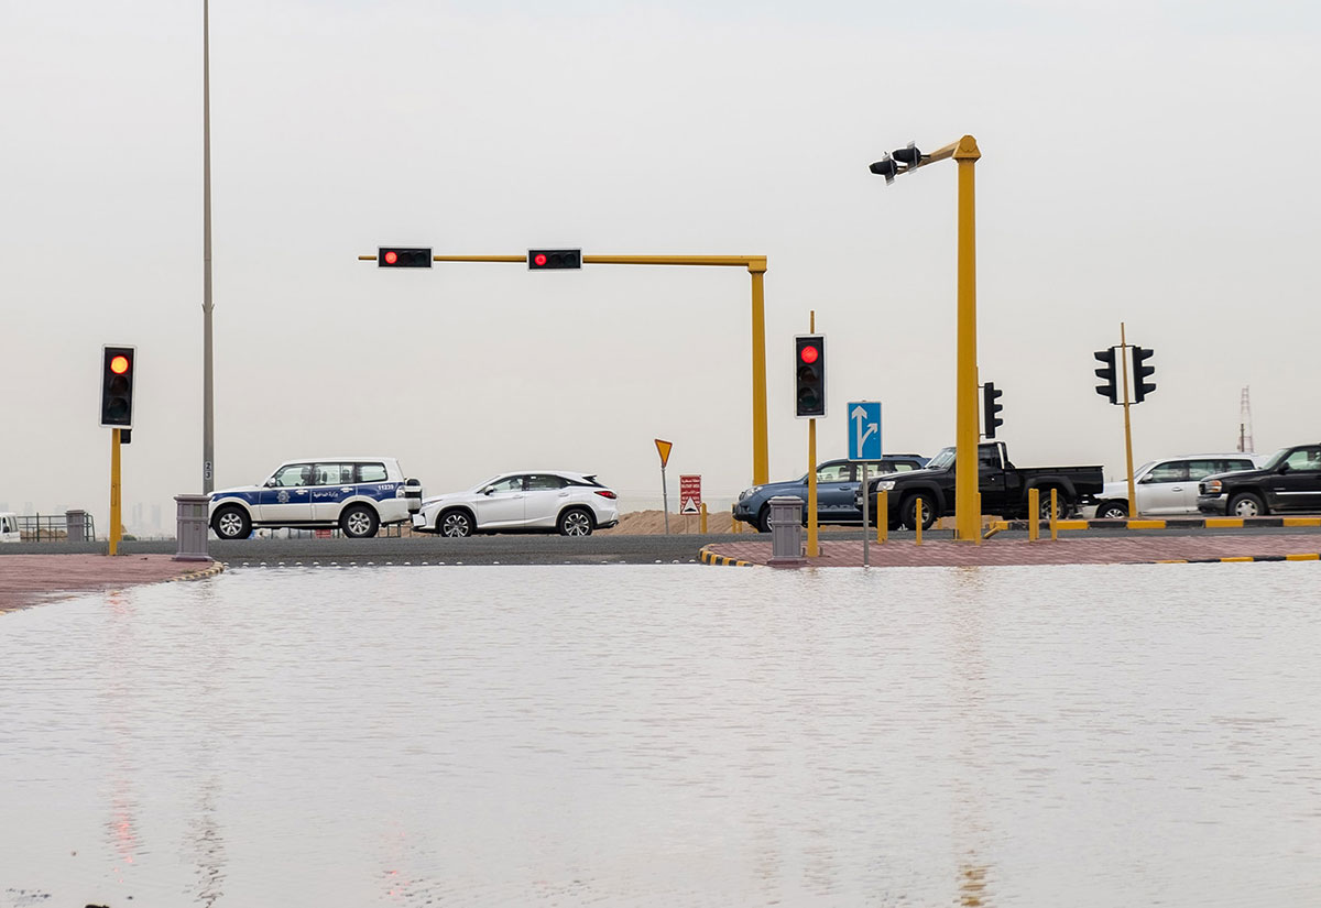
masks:
{"type": "Polygon", "coordinates": [[[334,528],[353,538],[400,524],[421,505],[421,483],[392,457],[285,461],[260,486],[211,492],[211,529],[247,538],[254,527],[334,528]]]}

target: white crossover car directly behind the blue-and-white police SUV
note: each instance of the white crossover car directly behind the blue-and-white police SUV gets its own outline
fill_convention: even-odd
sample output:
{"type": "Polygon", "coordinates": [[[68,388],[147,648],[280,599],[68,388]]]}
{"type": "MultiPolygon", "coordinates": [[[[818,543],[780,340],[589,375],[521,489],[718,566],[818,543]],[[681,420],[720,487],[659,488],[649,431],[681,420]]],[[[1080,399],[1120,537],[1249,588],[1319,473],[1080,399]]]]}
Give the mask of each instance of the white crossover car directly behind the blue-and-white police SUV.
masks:
{"type": "Polygon", "coordinates": [[[617,523],[613,490],[594,475],[560,470],[502,472],[466,491],[428,498],[412,517],[419,532],[456,537],[524,529],[590,536],[617,523]]]}

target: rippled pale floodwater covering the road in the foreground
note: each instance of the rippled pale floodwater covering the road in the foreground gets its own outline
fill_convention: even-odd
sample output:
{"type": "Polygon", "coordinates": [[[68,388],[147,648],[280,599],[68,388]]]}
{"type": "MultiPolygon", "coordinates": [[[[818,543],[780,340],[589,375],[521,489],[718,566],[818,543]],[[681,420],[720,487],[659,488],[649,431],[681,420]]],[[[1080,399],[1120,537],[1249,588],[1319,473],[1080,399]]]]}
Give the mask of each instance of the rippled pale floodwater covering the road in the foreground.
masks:
{"type": "Polygon", "coordinates": [[[1321,565],[232,570],[0,615],[0,905],[1321,904],[1321,565]]]}

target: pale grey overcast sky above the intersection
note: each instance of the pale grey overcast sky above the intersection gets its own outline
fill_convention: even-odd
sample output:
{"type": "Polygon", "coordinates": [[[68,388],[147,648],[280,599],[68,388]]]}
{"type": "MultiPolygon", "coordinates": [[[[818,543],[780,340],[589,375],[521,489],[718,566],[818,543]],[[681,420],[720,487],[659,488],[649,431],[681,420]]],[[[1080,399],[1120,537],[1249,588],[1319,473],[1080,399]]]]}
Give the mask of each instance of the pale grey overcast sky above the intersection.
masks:
{"type": "MultiPolygon", "coordinates": [[[[1092,351],[1156,351],[1137,462],[1316,441],[1321,7],[1306,0],[214,0],[217,488],[398,457],[428,494],[597,472],[713,507],[752,479],[741,269],[437,253],[766,255],[771,479],[802,474],[791,337],[828,338],[888,451],[952,443],[952,162],[978,179],[979,368],[1024,466],[1124,471],[1092,351]]],[[[202,4],[0,0],[0,505],[104,532],[104,343],[139,350],[125,516],[202,484],[202,4]]]]}

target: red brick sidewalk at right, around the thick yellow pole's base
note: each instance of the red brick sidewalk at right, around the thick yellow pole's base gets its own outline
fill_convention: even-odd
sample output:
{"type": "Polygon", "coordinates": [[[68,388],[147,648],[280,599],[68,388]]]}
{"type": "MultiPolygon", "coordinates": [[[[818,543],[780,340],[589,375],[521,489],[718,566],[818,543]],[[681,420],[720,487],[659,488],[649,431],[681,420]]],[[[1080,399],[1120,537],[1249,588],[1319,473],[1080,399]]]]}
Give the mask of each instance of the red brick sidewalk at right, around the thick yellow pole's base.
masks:
{"type": "MultiPolygon", "coordinates": [[[[861,568],[861,540],[826,540],[820,556],[810,558],[815,568],[861,568]]],[[[770,541],[717,542],[709,552],[721,558],[764,565],[770,558],[770,541]]],[[[958,565],[1111,565],[1155,564],[1159,561],[1217,561],[1250,558],[1279,561],[1289,556],[1321,554],[1316,533],[1281,536],[1132,536],[1041,540],[983,540],[982,545],[946,538],[889,541],[871,546],[873,568],[927,568],[958,565]]],[[[723,564],[723,562],[721,562],[723,564]]]]}

